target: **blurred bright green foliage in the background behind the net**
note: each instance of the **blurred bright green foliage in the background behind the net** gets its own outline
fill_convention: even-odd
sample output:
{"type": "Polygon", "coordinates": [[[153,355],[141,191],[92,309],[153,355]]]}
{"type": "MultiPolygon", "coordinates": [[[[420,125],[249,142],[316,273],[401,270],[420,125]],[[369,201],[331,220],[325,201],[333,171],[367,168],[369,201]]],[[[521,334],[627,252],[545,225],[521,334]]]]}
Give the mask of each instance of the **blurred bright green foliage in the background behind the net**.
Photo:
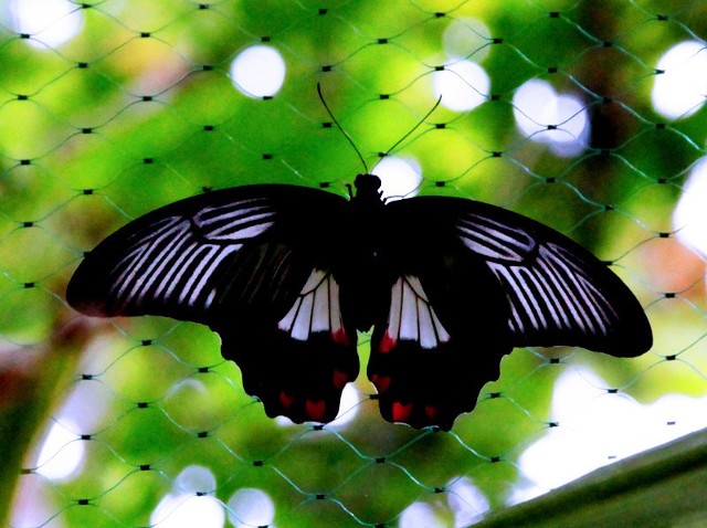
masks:
{"type": "MultiPolygon", "coordinates": [[[[454,479],[468,477],[493,508],[507,503],[523,479],[517,458],[547,430],[552,383],[566,369],[588,365],[644,402],[703,394],[704,285],[665,299],[673,283],[659,278],[671,251],[662,244],[674,243],[659,233],[672,230],[680,183],[707,134],[705,109],[664,126],[651,107],[659,54],[707,33],[704,6],[678,3],[686,6],[357,0],[329,2],[323,12],[309,1],[104,0],[75,4],[81,31],[56,49],[31,45],[41,39],[21,38],[6,17],[0,338],[15,355],[44,347],[52,361],[38,368],[52,370],[41,380],[28,374],[28,383],[57,390],[45,401],[13,400],[11,386],[0,389],[2,433],[10,437],[22,425],[41,442],[48,416],[60,415],[86,383],[106,400],[93,429],[76,431],[91,435],[77,475],[52,483],[30,472],[21,479],[41,481],[50,516],[71,527],[147,526],[193,464],[213,472],[223,501],[240,488],[265,490],[281,527],[395,525],[414,501],[451,525],[449,494],[437,492],[454,479]],[[388,424],[369,398],[349,427],[315,431],[266,418],[208,329],[149,317],[96,324],[66,306],[64,288],[83,252],[159,205],[256,182],[328,183],[346,194],[363,168],[344,135],[323,126],[330,117],[316,84],[370,168],[433,107],[434,68],[450,60],[444,31],[471,19],[489,30],[466,55],[482,57],[492,80],[487,102],[465,113],[437,108],[394,154],[416,158],[421,193],[514,209],[614,262],[648,306],[652,353],[619,361],[516,350],[451,434],[388,424]],[[229,76],[234,56],[258,44],[277,49],[287,67],[272,99],[243,95],[229,76]],[[587,150],[561,158],[523,137],[511,101],[529,78],[582,98],[592,123],[587,150]],[[86,335],[78,365],[53,346],[77,319],[86,335]],[[683,361],[667,367],[662,358],[672,355],[683,361]],[[59,376],[62,365],[71,379],[59,376]]],[[[366,336],[361,341],[365,366],[366,336]]],[[[469,351],[469,368],[483,348],[469,351]]],[[[365,379],[357,388],[372,393],[365,379]]],[[[23,448],[11,444],[3,445],[19,450],[17,462],[23,448]]],[[[27,458],[23,467],[34,463],[27,458]]],[[[17,465],[2,475],[8,494],[17,475],[17,465]]]]}

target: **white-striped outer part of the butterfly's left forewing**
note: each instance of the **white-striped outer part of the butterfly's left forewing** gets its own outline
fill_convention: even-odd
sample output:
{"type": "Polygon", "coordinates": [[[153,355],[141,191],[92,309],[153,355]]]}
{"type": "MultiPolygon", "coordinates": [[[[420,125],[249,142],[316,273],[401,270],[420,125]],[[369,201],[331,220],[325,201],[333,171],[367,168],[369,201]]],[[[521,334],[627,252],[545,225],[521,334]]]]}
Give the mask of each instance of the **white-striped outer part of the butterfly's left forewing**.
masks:
{"type": "Polygon", "coordinates": [[[219,309],[219,292],[228,287],[224,270],[249,247],[272,240],[282,222],[271,194],[258,188],[218,191],[130,222],[82,262],[68,285],[68,303],[92,315],[208,323],[219,309]]]}

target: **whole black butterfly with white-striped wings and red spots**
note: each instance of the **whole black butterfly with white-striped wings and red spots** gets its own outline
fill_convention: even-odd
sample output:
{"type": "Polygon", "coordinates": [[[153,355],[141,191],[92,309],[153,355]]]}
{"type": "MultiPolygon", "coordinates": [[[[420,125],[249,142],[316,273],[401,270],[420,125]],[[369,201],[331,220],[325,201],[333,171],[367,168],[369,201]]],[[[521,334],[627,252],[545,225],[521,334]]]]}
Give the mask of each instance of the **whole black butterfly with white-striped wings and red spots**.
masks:
{"type": "Polygon", "coordinates": [[[519,214],[472,200],[386,203],[251,186],[141,217],[92,251],[66,298],[84,314],[209,325],[268,416],[331,421],[359,373],[390,422],[450,429],[514,347],[571,345],[620,357],[652,345],[629,288],[588,251],[519,214]]]}

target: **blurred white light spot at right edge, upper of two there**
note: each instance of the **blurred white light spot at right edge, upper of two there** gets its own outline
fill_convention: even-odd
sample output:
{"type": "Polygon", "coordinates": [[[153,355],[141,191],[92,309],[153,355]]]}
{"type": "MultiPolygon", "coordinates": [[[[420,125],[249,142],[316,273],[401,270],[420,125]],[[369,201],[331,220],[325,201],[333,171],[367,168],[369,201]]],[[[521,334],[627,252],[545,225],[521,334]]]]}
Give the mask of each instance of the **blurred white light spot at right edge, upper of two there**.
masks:
{"type": "Polygon", "coordinates": [[[651,98],[655,110],[671,119],[688,117],[707,96],[707,50],[697,41],[671,47],[658,61],[651,98]]]}

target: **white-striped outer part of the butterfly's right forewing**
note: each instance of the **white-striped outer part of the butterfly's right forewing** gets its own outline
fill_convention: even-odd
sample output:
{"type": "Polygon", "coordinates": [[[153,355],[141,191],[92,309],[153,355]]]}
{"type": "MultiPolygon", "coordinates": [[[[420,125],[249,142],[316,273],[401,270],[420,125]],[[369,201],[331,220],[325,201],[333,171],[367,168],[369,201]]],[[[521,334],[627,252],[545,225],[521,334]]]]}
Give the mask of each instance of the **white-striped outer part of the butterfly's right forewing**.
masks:
{"type": "Polygon", "coordinates": [[[618,357],[651,348],[653,334],[642,306],[589,251],[520,214],[460,202],[456,235],[503,285],[514,346],[580,346],[618,357]]]}

